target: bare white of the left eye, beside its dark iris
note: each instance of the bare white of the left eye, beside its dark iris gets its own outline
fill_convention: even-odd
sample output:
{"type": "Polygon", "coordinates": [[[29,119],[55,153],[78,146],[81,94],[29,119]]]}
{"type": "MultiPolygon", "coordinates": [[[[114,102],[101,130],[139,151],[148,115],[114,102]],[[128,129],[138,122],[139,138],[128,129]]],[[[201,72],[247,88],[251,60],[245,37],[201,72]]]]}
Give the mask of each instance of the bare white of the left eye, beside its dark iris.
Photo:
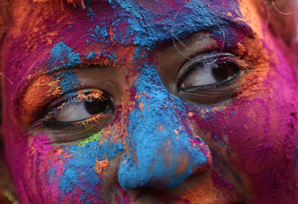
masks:
{"type": "Polygon", "coordinates": [[[72,102],[66,108],[57,113],[54,120],[57,122],[71,122],[90,117],[85,106],[85,99],[79,102],[72,102]]]}

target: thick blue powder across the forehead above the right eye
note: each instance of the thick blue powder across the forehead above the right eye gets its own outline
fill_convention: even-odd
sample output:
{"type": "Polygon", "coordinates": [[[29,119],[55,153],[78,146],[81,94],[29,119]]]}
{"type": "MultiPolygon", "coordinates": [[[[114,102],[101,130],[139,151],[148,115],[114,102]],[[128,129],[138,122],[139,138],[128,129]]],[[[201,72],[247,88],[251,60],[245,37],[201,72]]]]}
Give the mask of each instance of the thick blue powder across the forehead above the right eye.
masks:
{"type": "MultiPolygon", "coordinates": [[[[160,13],[140,7],[137,2],[132,0],[109,0],[109,2],[115,8],[120,6],[124,9],[122,13],[116,10],[118,13],[116,14],[117,20],[113,23],[113,39],[122,45],[133,43],[147,46],[147,48],[153,48],[158,43],[170,39],[172,28],[173,34],[179,38],[200,30],[212,30],[213,35],[222,38],[223,32],[220,27],[225,29],[236,17],[241,17],[238,2],[233,1],[227,2],[230,5],[233,4],[232,8],[235,8],[235,11],[232,11],[229,6],[222,7],[215,0],[211,0],[208,4],[193,0],[192,4],[188,5],[185,1],[176,2],[173,7],[166,7],[160,13]],[[117,4],[119,6],[116,6],[117,4]],[[212,5],[212,9],[208,7],[209,4],[212,5]],[[181,10],[173,21],[179,8],[181,10]],[[224,15],[214,15],[214,11],[219,11],[222,14],[231,12],[235,17],[232,20],[224,15]],[[127,13],[130,15],[126,15],[127,13]],[[123,32],[124,28],[126,28],[125,32],[123,32]],[[129,42],[131,36],[134,36],[133,42],[129,42]]],[[[162,1],[155,3],[156,7],[165,7],[162,1]]],[[[237,26],[249,30],[249,27],[243,22],[237,21],[237,23],[239,24],[237,26]]]]}

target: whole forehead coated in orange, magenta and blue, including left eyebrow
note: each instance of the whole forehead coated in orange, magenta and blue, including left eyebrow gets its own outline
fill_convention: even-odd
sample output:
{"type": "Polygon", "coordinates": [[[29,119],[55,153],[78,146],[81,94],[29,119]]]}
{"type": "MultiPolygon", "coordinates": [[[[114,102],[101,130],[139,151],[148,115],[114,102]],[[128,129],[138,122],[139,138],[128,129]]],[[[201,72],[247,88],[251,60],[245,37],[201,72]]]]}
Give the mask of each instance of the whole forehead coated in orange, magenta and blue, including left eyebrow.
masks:
{"type": "Polygon", "coordinates": [[[12,56],[2,67],[21,78],[57,68],[89,64],[119,65],[133,59],[137,47],[155,49],[161,42],[210,31],[249,27],[237,0],[86,1],[87,8],[25,1],[16,5],[14,27],[2,53],[12,56]],[[17,16],[22,16],[17,17],[17,16]],[[6,69],[5,67],[14,67],[6,69]],[[34,73],[32,73],[34,72],[34,73]]]}

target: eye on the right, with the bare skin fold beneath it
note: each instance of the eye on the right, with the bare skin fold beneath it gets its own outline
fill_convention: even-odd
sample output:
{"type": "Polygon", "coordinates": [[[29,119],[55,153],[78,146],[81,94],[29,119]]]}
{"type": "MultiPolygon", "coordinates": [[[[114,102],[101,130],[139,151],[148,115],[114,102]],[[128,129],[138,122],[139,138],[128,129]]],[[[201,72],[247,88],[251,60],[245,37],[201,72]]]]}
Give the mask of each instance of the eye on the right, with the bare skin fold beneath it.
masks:
{"type": "Polygon", "coordinates": [[[201,104],[214,104],[231,98],[244,83],[250,64],[231,53],[204,53],[187,61],[178,76],[179,94],[201,104]]]}

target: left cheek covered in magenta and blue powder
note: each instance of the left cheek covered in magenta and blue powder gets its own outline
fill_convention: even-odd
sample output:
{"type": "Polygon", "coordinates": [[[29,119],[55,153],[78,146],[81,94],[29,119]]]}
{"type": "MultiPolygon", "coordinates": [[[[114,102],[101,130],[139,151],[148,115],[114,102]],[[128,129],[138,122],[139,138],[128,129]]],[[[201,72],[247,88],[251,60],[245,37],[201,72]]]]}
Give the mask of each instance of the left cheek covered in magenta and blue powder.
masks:
{"type": "Polygon", "coordinates": [[[105,180],[117,174],[117,167],[109,166],[124,148],[122,143],[104,141],[103,137],[101,131],[76,145],[53,148],[47,136],[24,134],[17,145],[20,148],[7,151],[13,157],[10,166],[19,199],[36,204],[104,202],[105,180]]]}

